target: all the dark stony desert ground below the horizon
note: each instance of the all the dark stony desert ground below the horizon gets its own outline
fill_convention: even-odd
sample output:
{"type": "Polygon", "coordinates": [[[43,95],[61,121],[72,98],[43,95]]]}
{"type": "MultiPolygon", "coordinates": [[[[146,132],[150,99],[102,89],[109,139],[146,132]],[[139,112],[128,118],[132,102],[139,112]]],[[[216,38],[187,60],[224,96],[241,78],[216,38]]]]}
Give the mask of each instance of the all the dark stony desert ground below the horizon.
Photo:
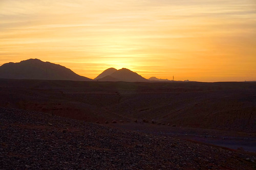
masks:
{"type": "Polygon", "coordinates": [[[1,79],[0,94],[2,169],[256,168],[253,82],[1,79]]]}

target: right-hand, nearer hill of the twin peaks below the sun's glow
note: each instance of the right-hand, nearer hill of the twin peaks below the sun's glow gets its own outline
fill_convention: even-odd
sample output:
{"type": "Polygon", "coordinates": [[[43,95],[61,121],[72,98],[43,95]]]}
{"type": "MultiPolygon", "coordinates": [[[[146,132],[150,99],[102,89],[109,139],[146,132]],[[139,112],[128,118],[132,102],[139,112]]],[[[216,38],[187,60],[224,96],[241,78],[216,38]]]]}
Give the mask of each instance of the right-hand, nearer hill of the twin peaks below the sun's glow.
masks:
{"type": "MultiPolygon", "coordinates": [[[[104,72],[104,71],[103,71],[104,72]]],[[[102,74],[103,74],[102,72],[102,74]]],[[[105,76],[97,81],[123,81],[123,82],[145,82],[147,79],[127,68],[116,70],[111,75],[105,76]]]]}

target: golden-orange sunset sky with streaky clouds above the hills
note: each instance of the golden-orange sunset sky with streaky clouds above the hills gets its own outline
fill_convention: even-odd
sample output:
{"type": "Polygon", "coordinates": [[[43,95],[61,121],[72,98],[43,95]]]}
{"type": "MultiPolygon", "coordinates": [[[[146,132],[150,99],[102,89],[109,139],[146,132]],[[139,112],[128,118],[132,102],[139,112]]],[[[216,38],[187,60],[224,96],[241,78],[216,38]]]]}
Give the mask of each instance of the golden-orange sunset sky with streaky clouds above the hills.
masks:
{"type": "Polygon", "coordinates": [[[0,1],[0,65],[30,58],[95,78],[256,80],[255,0],[0,1]]]}

